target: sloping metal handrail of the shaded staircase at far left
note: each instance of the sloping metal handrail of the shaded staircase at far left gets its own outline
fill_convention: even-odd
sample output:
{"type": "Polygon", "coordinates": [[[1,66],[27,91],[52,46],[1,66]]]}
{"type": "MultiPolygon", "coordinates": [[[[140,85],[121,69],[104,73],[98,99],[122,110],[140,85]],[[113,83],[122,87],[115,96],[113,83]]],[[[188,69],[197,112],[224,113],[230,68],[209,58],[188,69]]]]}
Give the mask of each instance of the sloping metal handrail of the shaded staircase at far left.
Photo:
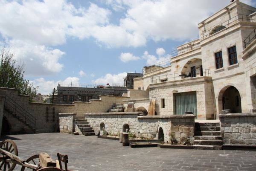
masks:
{"type": "Polygon", "coordinates": [[[31,113],[29,113],[27,110],[21,107],[16,101],[9,98],[8,96],[5,97],[4,107],[6,108],[6,110],[9,110],[9,112],[14,113],[15,116],[22,119],[26,124],[28,124],[32,128],[36,128],[35,116],[33,116],[31,113]]]}

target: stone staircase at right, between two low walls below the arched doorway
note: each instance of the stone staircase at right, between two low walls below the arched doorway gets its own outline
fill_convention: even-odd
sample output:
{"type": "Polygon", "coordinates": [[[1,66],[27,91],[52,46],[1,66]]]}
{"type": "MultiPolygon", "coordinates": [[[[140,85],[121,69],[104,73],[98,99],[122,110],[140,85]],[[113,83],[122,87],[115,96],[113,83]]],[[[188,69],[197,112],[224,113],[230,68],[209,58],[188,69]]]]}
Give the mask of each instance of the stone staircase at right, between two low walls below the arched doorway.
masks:
{"type": "Polygon", "coordinates": [[[221,150],[222,137],[219,122],[195,122],[194,149],[221,150]]]}

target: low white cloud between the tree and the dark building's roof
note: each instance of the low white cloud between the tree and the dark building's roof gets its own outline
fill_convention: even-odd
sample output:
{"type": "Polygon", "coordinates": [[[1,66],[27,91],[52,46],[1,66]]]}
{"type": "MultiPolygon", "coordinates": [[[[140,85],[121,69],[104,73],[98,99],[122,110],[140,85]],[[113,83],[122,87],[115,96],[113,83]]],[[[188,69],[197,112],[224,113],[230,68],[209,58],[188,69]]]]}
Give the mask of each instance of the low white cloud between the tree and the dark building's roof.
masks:
{"type": "Polygon", "coordinates": [[[67,86],[67,85],[79,85],[79,78],[77,77],[67,77],[66,79],[59,80],[59,81],[47,81],[44,78],[38,78],[33,81],[30,81],[34,84],[34,86],[38,86],[38,93],[47,95],[52,92],[53,88],[56,88],[58,86],[58,83],[61,84],[61,86],[67,86]]]}

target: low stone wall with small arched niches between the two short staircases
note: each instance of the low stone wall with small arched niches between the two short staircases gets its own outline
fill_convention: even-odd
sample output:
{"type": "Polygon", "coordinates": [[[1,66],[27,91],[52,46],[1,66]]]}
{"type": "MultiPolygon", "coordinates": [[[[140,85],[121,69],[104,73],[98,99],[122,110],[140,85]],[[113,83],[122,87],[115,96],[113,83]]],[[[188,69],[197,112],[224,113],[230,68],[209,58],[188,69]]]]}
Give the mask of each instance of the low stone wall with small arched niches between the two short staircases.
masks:
{"type": "Polygon", "coordinates": [[[122,132],[123,126],[127,124],[130,133],[138,138],[158,139],[160,127],[163,129],[165,142],[175,139],[178,143],[183,143],[194,136],[194,115],[138,116],[139,114],[140,112],[85,113],[85,119],[94,130],[99,130],[100,124],[104,123],[105,131],[113,135],[122,132]]]}

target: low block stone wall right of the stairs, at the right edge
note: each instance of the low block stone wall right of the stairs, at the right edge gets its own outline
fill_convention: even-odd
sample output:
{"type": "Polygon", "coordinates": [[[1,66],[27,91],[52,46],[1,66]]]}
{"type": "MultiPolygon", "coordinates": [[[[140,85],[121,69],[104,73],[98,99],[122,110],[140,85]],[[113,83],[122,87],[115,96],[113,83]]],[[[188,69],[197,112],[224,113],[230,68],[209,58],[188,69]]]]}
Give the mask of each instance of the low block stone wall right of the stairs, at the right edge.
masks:
{"type": "Polygon", "coordinates": [[[220,114],[223,144],[256,144],[256,113],[220,114]]]}

